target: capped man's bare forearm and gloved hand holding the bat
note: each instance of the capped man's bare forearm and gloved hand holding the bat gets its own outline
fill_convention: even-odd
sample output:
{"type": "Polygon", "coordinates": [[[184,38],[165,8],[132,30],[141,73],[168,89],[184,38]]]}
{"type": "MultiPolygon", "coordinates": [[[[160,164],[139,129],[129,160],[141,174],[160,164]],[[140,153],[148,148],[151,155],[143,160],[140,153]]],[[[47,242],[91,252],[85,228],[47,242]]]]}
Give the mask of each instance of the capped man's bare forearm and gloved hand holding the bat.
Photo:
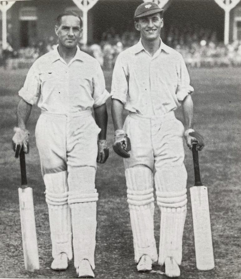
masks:
{"type": "Polygon", "coordinates": [[[196,144],[197,150],[202,150],[204,147],[202,136],[195,132],[193,129],[193,102],[191,95],[187,95],[182,101],[182,110],[184,116],[184,137],[186,139],[187,146],[189,149],[192,148],[192,144],[196,144]]]}

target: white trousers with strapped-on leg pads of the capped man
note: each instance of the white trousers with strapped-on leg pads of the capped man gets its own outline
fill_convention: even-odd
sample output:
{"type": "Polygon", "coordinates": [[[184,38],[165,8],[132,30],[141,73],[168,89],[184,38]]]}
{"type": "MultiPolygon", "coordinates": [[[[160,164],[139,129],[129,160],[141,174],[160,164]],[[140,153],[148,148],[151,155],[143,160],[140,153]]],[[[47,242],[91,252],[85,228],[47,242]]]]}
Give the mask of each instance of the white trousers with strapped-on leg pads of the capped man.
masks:
{"type": "Polygon", "coordinates": [[[131,141],[124,159],[127,198],[133,232],[135,261],[148,254],[163,264],[172,256],[181,264],[186,218],[184,127],[174,112],[158,117],[129,113],[123,130],[131,141]],[[154,238],[154,186],[161,211],[159,257],[154,238]]]}

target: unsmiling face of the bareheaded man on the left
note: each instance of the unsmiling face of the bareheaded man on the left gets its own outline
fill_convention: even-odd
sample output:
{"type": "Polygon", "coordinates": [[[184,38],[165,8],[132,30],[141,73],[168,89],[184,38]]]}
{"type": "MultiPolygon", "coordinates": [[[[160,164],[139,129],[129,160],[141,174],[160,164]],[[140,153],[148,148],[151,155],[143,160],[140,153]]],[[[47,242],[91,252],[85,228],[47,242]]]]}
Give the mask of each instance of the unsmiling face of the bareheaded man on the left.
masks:
{"type": "Polygon", "coordinates": [[[75,16],[63,16],[60,26],[55,26],[59,44],[66,48],[75,48],[82,36],[80,19],[75,16]]]}

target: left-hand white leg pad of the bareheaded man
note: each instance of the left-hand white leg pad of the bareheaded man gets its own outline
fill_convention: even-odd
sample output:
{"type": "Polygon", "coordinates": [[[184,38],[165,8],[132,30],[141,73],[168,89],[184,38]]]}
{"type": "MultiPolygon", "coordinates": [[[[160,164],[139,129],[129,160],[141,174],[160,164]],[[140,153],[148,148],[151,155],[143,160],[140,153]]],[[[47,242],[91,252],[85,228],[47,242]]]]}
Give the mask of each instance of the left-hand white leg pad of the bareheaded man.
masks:
{"type": "Polygon", "coordinates": [[[66,253],[72,259],[72,233],[70,207],[68,206],[67,172],[44,175],[46,202],[49,210],[49,224],[52,242],[52,257],[66,253]]]}

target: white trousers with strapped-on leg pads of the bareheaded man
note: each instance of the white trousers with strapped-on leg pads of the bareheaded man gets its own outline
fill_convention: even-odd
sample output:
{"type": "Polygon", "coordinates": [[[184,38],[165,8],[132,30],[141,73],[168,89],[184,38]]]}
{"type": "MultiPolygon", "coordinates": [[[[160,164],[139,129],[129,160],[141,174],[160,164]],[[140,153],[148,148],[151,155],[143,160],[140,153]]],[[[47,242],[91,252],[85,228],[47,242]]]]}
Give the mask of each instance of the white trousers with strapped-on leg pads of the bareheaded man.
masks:
{"type": "Polygon", "coordinates": [[[86,258],[94,269],[99,132],[90,110],[70,115],[43,111],[36,124],[52,256],[65,252],[72,259],[73,240],[76,268],[86,258]]]}

